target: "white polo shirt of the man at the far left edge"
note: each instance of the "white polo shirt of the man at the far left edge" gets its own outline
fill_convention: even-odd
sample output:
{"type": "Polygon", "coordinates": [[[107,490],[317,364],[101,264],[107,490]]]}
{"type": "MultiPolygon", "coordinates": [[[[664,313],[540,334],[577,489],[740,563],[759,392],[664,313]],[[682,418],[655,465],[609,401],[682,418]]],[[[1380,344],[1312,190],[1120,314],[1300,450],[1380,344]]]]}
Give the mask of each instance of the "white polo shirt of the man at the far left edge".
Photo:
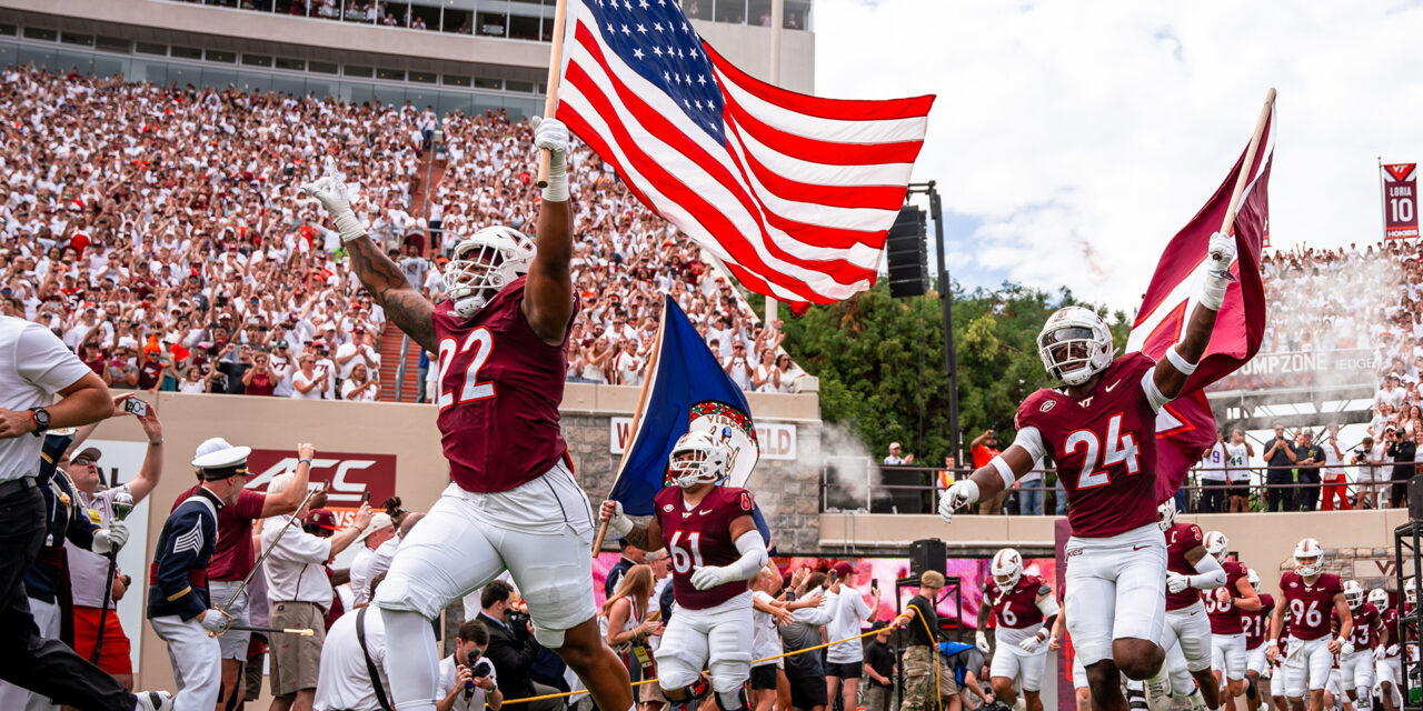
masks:
{"type": "MultiPolygon", "coordinates": [[[[37,323],[0,316],[0,408],[23,412],[54,404],[54,395],[92,373],[37,323]]],[[[41,437],[0,439],[0,482],[33,476],[41,437]]]]}

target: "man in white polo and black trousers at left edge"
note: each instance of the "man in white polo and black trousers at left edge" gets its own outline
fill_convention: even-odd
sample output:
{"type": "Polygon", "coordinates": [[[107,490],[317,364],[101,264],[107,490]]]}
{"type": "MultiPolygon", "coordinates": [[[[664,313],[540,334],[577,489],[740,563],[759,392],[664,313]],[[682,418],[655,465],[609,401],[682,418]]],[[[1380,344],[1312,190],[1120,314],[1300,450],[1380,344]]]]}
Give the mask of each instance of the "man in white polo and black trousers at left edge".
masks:
{"type": "Polygon", "coordinates": [[[0,316],[0,680],[81,711],[172,708],[166,693],[135,695],[68,644],[40,636],[24,574],[47,536],[36,482],[41,438],[51,427],[112,415],[114,401],[104,381],[43,326],[0,316]]]}

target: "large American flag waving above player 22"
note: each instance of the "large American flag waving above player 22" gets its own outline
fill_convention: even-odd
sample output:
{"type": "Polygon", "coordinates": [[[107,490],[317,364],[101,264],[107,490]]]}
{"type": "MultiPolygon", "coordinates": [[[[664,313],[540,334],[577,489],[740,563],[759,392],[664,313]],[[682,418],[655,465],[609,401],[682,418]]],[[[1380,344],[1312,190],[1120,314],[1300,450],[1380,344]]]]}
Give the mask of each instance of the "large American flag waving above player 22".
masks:
{"type": "Polygon", "coordinates": [[[874,284],[933,104],[754,80],[675,0],[569,0],[558,100],[643,205],[795,310],[874,284]]]}

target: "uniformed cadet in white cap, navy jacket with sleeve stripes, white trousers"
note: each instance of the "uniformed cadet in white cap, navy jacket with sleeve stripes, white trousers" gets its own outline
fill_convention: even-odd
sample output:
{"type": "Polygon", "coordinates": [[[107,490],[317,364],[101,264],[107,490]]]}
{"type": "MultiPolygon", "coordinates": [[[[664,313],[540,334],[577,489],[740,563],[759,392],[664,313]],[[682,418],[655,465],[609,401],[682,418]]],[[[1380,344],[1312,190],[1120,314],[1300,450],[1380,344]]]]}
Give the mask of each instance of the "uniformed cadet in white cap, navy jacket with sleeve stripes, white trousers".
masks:
{"type": "Polygon", "coordinates": [[[218,510],[248,483],[248,447],[226,447],[192,461],[198,491],[178,505],[154,549],[148,623],[165,643],[178,681],[175,711],[209,711],[222,694],[222,647],[215,636],[232,619],[208,597],[208,562],[218,542],[218,510]],[[209,634],[211,633],[211,634],[209,634]]]}

